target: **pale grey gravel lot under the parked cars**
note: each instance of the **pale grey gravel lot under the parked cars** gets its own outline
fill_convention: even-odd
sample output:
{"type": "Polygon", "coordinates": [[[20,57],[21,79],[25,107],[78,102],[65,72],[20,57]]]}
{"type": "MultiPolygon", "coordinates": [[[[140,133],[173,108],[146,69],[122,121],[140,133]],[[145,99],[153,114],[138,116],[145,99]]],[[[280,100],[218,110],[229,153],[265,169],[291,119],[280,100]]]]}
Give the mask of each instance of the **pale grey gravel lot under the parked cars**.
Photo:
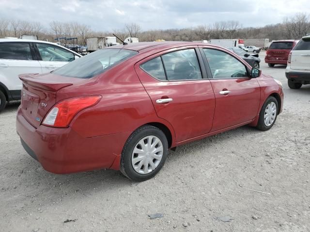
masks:
{"type": "Polygon", "coordinates": [[[309,232],[310,85],[289,89],[285,67],[260,57],[285,92],[274,127],[178,147],[143,183],[111,170],[46,172],[22,148],[10,104],[0,114],[0,231],[309,232]]]}

